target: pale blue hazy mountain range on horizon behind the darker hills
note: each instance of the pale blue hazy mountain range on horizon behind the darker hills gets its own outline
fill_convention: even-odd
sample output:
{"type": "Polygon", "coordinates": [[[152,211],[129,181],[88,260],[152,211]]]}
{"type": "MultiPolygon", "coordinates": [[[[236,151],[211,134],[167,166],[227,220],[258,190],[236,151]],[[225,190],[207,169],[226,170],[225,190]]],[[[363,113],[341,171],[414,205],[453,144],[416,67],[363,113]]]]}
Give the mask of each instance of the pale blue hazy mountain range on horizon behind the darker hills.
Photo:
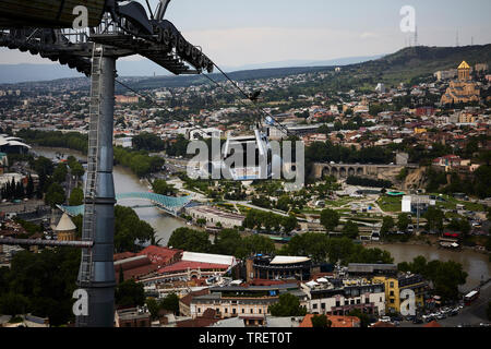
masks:
{"type": "MultiPolygon", "coordinates": [[[[262,64],[251,64],[243,67],[224,67],[226,72],[256,70],[256,69],[274,69],[274,68],[291,68],[291,67],[321,67],[321,65],[346,65],[352,63],[359,63],[371,59],[380,58],[374,57],[350,57],[340,58],[328,61],[283,61],[271,62],[262,64]]],[[[117,63],[118,74],[120,76],[171,76],[164,68],[155,64],[154,62],[142,60],[119,60],[117,63]]],[[[81,77],[83,74],[77,73],[75,70],[71,70],[65,65],[60,64],[0,64],[0,84],[21,83],[21,82],[35,82],[35,81],[49,81],[65,77],[81,77]]]]}

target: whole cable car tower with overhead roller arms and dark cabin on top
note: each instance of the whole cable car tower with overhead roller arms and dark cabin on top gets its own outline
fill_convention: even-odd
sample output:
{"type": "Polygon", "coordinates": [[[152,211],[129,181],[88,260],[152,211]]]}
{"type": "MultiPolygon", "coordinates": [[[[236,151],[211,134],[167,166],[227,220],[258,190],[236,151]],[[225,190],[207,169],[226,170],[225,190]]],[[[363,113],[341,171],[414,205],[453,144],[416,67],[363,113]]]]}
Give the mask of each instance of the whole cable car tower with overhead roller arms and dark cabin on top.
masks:
{"type": "MultiPolygon", "coordinates": [[[[214,70],[209,58],[164,20],[169,2],[160,0],[155,11],[147,2],[149,17],[136,1],[2,0],[0,3],[0,47],[40,55],[91,76],[83,241],[49,243],[82,249],[77,282],[88,293],[88,314],[76,317],[79,327],[112,327],[115,321],[112,133],[117,59],[141,55],[176,75],[214,70]],[[88,27],[74,29],[73,13],[80,5],[87,9],[88,27]]],[[[22,243],[48,244],[29,240],[22,243]]]]}

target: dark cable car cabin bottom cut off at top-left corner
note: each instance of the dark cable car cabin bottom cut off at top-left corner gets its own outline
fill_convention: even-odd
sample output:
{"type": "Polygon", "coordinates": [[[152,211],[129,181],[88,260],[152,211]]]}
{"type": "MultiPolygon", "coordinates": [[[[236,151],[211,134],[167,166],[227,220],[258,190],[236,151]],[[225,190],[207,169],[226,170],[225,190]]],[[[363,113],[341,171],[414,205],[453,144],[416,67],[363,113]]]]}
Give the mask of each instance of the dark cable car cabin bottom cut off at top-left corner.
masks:
{"type": "Polygon", "coordinates": [[[107,0],[1,0],[0,28],[47,27],[72,28],[79,12],[85,7],[88,26],[100,24],[107,0]]]}

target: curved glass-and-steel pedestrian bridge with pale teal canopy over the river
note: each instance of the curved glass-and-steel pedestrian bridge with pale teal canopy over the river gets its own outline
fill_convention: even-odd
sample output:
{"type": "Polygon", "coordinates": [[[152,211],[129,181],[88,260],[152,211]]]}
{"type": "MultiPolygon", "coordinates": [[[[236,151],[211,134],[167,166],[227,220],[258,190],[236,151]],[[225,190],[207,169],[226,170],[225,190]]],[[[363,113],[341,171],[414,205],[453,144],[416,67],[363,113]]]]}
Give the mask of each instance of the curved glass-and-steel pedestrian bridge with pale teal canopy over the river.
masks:
{"type": "MultiPolygon", "coordinates": [[[[128,200],[142,200],[151,202],[152,205],[148,206],[135,206],[135,208],[142,208],[142,207],[157,207],[160,208],[168,214],[172,216],[177,216],[178,212],[183,208],[185,205],[188,205],[192,196],[180,196],[180,197],[173,197],[173,196],[165,196],[159,195],[155,193],[122,193],[116,195],[116,201],[128,201],[128,200]]],[[[85,212],[85,205],[80,206],[63,206],[63,205],[57,205],[58,208],[60,208],[63,213],[67,213],[69,216],[75,217],[79,215],[84,215],[85,212]]]]}

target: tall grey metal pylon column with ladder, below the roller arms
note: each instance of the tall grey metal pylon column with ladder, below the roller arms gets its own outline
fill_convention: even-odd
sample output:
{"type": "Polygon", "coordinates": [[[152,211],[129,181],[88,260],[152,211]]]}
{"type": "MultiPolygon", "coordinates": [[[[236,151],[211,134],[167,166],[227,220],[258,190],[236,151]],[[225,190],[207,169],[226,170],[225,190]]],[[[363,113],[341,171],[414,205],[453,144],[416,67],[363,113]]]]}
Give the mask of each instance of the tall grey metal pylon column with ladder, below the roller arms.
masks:
{"type": "Polygon", "coordinates": [[[88,314],[76,317],[77,327],[111,327],[115,316],[115,184],[112,179],[112,124],[116,57],[94,45],[82,240],[93,241],[82,251],[79,286],[88,294],[88,314]]]}

